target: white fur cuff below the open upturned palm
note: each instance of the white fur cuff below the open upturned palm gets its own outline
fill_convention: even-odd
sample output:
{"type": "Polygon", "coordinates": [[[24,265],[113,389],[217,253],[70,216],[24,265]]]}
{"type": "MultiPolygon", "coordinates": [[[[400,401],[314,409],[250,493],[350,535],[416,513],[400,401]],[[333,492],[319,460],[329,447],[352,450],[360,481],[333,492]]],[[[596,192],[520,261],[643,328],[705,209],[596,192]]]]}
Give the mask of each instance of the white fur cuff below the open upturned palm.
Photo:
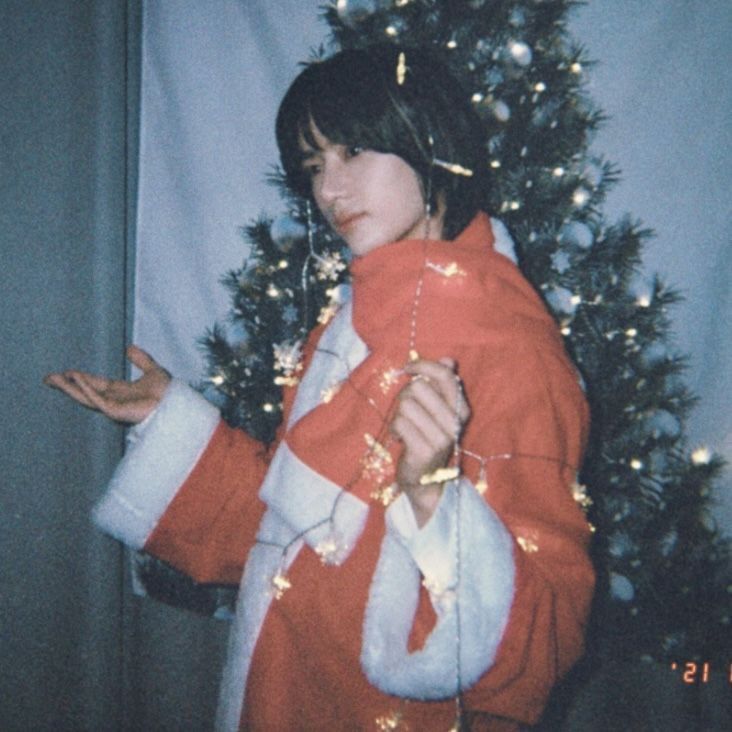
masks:
{"type": "Polygon", "coordinates": [[[218,426],[221,415],[177,379],[130,442],[92,518],[103,531],[142,549],[218,426]]]}

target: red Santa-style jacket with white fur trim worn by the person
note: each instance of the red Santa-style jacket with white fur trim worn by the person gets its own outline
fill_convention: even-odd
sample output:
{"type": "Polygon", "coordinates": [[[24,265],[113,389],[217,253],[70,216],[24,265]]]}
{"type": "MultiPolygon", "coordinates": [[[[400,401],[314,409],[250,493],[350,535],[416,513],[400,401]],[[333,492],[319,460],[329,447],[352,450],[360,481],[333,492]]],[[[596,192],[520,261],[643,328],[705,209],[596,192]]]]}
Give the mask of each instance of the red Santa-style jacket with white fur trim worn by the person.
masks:
{"type": "MultiPolygon", "coordinates": [[[[460,687],[472,729],[515,729],[581,654],[594,578],[572,486],[587,406],[554,322],[492,244],[479,215],[453,242],[355,260],[352,302],[286,390],[276,449],[206,413],[199,447],[170,478],[156,469],[154,506],[113,479],[97,521],[114,535],[201,582],[238,582],[246,565],[219,728],[446,730],[460,687]],[[472,410],[462,477],[421,531],[406,499],[380,500],[410,345],[456,360],[472,410]]],[[[178,398],[125,460],[155,465],[178,398]]]]}

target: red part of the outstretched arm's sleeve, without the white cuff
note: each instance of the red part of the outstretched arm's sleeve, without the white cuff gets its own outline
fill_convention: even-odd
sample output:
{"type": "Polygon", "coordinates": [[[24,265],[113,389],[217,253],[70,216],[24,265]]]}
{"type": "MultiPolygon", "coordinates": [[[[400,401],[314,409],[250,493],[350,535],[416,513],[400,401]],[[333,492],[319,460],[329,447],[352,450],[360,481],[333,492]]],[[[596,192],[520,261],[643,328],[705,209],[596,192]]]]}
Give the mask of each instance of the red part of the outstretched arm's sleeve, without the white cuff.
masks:
{"type": "Polygon", "coordinates": [[[238,584],[264,504],[266,448],[221,422],[144,550],[197,582],[238,584]]]}

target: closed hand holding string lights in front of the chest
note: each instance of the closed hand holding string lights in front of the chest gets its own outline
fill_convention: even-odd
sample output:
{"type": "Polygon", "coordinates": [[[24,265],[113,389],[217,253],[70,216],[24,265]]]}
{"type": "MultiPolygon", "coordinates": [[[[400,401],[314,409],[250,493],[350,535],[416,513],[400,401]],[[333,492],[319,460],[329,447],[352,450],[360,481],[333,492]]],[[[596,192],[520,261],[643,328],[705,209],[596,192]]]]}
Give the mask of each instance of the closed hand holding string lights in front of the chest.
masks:
{"type": "Polygon", "coordinates": [[[405,371],[412,380],[399,394],[390,428],[404,445],[396,480],[421,527],[432,516],[442,485],[423,486],[420,478],[447,464],[455,439],[470,418],[470,408],[451,358],[415,361],[405,371]]]}

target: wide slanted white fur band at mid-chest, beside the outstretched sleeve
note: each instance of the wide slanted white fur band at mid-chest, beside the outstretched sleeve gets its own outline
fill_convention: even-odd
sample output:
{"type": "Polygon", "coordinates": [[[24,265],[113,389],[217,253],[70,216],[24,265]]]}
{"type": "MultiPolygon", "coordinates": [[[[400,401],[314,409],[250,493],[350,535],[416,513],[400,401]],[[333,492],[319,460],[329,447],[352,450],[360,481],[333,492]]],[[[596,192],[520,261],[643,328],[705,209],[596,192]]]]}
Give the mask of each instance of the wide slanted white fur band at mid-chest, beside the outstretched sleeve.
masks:
{"type": "Polygon", "coordinates": [[[369,512],[366,503],[306,465],[284,440],[275,452],[259,497],[295,534],[310,529],[303,538],[313,549],[335,532],[342,542],[336,564],[351,553],[369,512]]]}

